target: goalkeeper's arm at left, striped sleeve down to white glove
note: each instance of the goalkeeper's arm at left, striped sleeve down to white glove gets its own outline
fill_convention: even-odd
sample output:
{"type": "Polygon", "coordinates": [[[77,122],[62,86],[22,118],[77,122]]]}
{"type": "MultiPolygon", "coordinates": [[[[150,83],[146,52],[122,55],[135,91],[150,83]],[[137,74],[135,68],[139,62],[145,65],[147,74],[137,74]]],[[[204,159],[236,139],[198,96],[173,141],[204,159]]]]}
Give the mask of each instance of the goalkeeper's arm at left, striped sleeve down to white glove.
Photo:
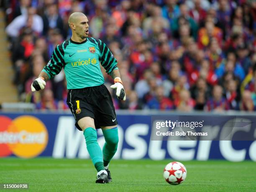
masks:
{"type": "Polygon", "coordinates": [[[51,77],[54,77],[56,74],[59,74],[62,67],[64,67],[64,51],[62,44],[56,46],[54,49],[51,60],[44,66],[44,69],[39,74],[38,78],[33,81],[31,84],[32,91],[43,90],[46,86],[46,81],[48,81],[51,77]]]}

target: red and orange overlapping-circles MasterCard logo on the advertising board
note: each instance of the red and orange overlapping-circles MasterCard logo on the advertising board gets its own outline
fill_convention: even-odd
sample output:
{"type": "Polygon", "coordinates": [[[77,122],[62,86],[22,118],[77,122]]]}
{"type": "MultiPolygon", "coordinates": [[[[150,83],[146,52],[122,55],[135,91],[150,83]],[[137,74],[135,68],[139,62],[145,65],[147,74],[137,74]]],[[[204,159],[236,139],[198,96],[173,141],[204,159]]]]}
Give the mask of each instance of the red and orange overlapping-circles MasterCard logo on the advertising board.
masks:
{"type": "Polygon", "coordinates": [[[14,154],[22,158],[40,155],[48,143],[44,123],[30,115],[15,119],[0,115],[0,157],[14,154]]]}

